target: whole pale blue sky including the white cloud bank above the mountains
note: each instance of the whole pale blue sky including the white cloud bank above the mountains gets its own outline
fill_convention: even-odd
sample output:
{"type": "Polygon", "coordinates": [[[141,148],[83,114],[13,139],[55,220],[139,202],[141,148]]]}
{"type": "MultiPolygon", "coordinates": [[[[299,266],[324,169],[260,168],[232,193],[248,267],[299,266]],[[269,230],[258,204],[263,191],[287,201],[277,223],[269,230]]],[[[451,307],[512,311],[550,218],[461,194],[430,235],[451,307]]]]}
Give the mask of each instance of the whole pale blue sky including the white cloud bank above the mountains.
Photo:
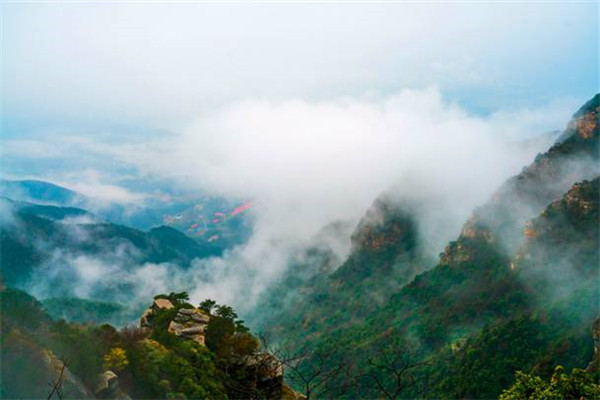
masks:
{"type": "Polygon", "coordinates": [[[255,200],[221,289],[392,187],[439,199],[440,246],[598,91],[597,2],[0,7],[2,175],[255,200]]]}

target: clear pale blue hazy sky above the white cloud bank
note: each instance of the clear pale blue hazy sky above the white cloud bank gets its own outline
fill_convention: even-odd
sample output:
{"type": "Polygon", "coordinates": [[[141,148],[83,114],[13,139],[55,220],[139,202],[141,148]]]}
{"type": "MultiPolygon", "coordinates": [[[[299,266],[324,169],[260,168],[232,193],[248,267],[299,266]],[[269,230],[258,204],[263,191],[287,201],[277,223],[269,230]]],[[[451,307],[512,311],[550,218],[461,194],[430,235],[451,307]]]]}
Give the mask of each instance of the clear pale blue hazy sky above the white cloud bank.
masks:
{"type": "Polygon", "coordinates": [[[173,129],[248,98],[433,86],[490,112],[583,100],[598,87],[597,2],[3,2],[2,11],[8,135],[173,129]]]}

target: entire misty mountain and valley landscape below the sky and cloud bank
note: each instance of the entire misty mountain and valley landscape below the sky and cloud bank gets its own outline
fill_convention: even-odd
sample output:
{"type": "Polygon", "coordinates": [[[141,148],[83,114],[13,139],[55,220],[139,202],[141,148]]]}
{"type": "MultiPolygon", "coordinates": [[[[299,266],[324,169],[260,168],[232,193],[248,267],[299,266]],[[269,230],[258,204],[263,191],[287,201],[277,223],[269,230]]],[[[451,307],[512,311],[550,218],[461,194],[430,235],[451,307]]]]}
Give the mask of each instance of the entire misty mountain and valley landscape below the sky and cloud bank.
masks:
{"type": "Polygon", "coordinates": [[[459,224],[404,182],[253,257],[249,199],[3,180],[0,394],[600,398],[599,112],[459,224]]]}

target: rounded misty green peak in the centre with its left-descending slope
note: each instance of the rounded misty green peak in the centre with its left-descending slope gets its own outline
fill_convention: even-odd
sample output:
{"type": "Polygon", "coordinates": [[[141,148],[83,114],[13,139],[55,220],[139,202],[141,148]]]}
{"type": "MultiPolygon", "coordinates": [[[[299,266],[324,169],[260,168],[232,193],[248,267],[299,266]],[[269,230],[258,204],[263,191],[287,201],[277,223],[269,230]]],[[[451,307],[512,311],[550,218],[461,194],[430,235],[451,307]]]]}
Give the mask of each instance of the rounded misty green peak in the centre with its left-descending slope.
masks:
{"type": "MultiPolygon", "coordinates": [[[[433,261],[419,246],[412,207],[407,203],[397,205],[386,196],[376,200],[354,229],[346,260],[331,265],[328,257],[305,257],[303,263],[291,265],[284,279],[266,295],[272,298],[279,293],[288,300],[280,303],[274,313],[251,321],[274,337],[286,331],[286,339],[294,335],[316,339],[360,324],[423,265],[433,261]],[[290,274],[301,276],[303,271],[311,270],[316,272],[304,275],[296,285],[285,280],[290,274]]],[[[259,303],[257,309],[263,307],[259,303]]]]}

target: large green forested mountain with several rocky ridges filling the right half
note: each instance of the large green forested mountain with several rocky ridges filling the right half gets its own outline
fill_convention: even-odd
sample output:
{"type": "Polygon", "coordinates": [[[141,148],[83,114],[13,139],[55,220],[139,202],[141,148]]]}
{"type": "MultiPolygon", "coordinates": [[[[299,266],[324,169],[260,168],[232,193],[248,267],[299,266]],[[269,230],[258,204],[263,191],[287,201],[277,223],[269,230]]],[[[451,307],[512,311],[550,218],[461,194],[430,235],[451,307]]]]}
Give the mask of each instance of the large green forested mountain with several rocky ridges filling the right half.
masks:
{"type": "Polygon", "coordinates": [[[339,398],[390,398],[390,388],[491,398],[517,370],[549,379],[556,364],[585,366],[600,313],[599,103],[596,95],[546,153],[477,208],[437,265],[418,250],[414,205],[384,196],[352,235],[347,260],[257,326],[283,347],[317,349],[314,365],[332,352],[345,360],[355,374],[330,382],[343,388],[328,393],[339,398]],[[393,373],[402,365],[404,380],[393,373]]]}

